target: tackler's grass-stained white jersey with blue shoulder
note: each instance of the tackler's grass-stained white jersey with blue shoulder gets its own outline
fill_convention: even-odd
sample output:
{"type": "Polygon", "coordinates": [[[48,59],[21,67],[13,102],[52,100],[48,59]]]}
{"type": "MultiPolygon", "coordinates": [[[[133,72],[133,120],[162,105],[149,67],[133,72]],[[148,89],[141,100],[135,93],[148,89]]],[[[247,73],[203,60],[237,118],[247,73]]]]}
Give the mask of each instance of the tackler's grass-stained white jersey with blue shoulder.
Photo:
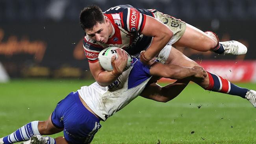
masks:
{"type": "Polygon", "coordinates": [[[151,78],[150,66],[143,65],[137,58],[133,61],[133,65],[108,87],[101,87],[95,82],[78,90],[81,98],[102,120],[139,96],[151,78]]]}

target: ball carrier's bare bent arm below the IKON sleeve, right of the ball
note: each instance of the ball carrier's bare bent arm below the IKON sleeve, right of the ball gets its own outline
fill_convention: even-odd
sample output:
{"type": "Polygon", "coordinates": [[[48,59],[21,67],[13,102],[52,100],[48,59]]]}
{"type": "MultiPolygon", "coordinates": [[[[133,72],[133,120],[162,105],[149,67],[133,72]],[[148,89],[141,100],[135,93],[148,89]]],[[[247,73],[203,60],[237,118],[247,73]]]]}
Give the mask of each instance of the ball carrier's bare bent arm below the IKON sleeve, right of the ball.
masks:
{"type": "Polygon", "coordinates": [[[173,32],[167,25],[148,15],[145,17],[146,22],[141,33],[153,37],[153,39],[148,49],[141,53],[141,62],[143,63],[153,59],[173,37],[173,32]]]}

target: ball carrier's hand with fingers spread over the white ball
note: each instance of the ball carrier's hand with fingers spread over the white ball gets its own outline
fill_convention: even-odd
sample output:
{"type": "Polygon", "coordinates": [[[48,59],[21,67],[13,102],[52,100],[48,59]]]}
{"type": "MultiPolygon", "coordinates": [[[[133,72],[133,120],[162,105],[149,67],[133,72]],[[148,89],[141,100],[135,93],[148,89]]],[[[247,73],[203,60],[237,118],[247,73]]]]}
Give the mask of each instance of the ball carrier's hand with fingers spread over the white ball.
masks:
{"type": "Polygon", "coordinates": [[[128,55],[126,54],[126,52],[124,52],[124,50],[121,50],[119,48],[116,49],[116,52],[117,58],[115,55],[111,57],[111,65],[113,66],[112,74],[114,76],[119,76],[122,74],[125,66],[127,65],[128,55]]]}

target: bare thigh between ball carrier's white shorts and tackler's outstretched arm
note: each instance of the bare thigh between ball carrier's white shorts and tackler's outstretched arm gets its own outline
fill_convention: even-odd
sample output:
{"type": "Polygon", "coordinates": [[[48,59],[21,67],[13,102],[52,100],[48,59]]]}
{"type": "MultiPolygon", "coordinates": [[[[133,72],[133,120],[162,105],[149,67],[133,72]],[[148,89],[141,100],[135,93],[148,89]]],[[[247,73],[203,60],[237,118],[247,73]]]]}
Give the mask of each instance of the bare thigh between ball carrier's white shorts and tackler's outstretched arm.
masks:
{"type": "Polygon", "coordinates": [[[186,67],[200,66],[198,65],[198,63],[196,63],[192,59],[189,59],[186,55],[182,54],[182,52],[180,52],[174,47],[172,47],[171,52],[165,64],[186,66],[186,67]]]}

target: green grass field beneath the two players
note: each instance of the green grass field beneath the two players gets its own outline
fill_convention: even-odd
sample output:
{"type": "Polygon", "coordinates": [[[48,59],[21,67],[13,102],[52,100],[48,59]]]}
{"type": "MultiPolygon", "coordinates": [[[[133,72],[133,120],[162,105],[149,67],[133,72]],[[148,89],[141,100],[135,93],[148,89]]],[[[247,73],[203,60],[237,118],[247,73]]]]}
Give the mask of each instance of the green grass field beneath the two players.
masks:
{"type": "MultiPolygon", "coordinates": [[[[18,79],[0,83],[0,137],[28,122],[46,120],[59,100],[92,82],[18,79]]],[[[256,89],[256,84],[237,85],[256,89]]],[[[101,124],[92,144],[256,143],[256,109],[247,100],[208,92],[194,83],[167,103],[138,97],[101,124]]]]}

